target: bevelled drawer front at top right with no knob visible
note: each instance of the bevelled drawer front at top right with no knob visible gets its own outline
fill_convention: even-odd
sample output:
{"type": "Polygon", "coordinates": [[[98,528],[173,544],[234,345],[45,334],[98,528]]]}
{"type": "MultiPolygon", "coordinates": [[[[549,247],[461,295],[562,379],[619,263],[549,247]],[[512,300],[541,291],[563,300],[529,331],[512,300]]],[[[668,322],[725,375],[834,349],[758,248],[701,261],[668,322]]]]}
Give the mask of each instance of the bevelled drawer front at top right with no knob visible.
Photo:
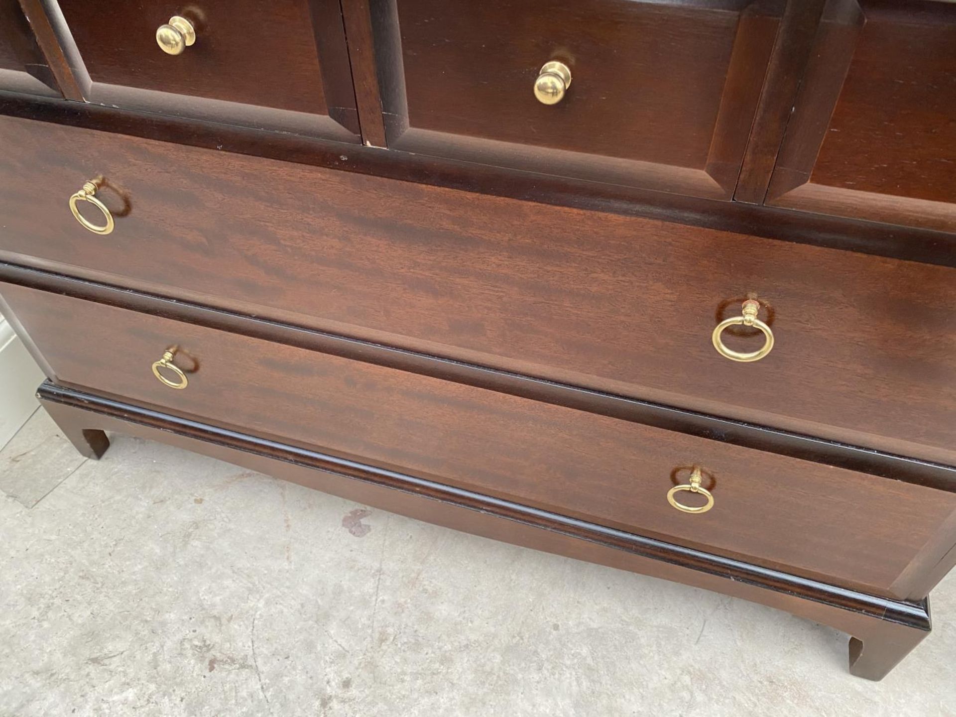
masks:
{"type": "Polygon", "coordinates": [[[956,5],[831,0],[768,202],[956,231],[956,5]]]}

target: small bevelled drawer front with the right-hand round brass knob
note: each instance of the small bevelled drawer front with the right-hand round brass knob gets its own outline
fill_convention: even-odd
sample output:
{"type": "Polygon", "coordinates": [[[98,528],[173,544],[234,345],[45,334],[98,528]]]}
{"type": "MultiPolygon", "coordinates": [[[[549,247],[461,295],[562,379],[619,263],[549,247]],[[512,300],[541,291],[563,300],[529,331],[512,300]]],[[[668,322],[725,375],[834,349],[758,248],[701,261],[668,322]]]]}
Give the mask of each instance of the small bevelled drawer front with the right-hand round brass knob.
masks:
{"type": "Polygon", "coordinates": [[[397,5],[377,53],[403,68],[395,87],[382,77],[390,147],[729,198],[783,3],[397,5]],[[541,72],[552,61],[566,91],[541,72]]]}

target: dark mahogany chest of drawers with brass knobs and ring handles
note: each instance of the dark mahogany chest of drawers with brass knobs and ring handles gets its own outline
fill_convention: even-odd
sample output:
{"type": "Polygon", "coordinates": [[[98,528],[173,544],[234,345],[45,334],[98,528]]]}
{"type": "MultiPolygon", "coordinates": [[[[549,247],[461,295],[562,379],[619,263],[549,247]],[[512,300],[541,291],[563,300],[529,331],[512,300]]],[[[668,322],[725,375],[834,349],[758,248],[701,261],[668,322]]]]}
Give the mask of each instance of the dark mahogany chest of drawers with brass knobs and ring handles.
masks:
{"type": "Polygon", "coordinates": [[[871,679],[923,639],[956,6],[252,5],[0,2],[0,307],[78,449],[761,601],[871,679]]]}

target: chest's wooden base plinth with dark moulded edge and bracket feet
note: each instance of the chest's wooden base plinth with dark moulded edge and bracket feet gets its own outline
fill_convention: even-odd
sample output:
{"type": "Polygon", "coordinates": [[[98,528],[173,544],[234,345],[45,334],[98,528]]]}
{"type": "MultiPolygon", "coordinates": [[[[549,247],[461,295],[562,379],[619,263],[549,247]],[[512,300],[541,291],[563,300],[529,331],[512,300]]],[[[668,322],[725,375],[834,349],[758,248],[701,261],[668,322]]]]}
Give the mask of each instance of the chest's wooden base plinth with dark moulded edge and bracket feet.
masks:
{"type": "Polygon", "coordinates": [[[455,530],[743,597],[855,636],[850,670],[880,680],[930,630],[927,599],[891,600],[750,565],[560,513],[540,511],[380,467],[44,383],[41,402],[78,448],[104,430],[205,453],[238,466],[455,530]]]}

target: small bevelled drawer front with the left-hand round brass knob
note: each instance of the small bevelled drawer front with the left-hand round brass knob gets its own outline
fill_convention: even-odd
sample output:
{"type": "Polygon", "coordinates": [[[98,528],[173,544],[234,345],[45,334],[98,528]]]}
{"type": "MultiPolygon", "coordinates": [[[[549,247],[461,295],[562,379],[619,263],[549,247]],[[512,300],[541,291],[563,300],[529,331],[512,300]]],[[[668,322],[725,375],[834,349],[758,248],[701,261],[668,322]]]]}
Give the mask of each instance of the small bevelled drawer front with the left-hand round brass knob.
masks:
{"type": "Polygon", "coordinates": [[[90,101],[358,141],[335,0],[59,5],[93,81],[90,101]],[[174,16],[188,26],[171,23],[174,16]],[[173,26],[167,46],[180,54],[160,47],[164,26],[173,26]]]}

